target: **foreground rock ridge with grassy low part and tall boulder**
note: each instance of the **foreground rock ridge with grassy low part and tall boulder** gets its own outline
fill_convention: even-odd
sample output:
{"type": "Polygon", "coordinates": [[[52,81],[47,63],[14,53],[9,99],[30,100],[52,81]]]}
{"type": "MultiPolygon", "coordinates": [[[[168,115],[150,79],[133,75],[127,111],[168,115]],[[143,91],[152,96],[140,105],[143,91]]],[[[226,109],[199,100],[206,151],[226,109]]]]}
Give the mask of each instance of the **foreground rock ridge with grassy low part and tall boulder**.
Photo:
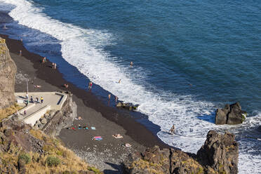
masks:
{"type": "Polygon", "coordinates": [[[123,170],[127,174],[237,173],[238,152],[234,135],[210,131],[196,155],[152,147],[142,153],[130,154],[123,163],[123,170]]]}

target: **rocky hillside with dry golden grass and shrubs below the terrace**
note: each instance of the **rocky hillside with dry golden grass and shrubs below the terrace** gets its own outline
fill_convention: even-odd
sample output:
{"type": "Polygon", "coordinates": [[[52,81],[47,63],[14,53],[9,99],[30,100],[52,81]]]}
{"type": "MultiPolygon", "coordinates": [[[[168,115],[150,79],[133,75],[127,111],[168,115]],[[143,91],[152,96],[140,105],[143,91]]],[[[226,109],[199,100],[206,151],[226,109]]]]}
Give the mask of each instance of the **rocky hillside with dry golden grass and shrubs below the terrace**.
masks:
{"type": "Polygon", "coordinates": [[[100,173],[56,138],[17,119],[0,124],[0,173],[100,173]]]}

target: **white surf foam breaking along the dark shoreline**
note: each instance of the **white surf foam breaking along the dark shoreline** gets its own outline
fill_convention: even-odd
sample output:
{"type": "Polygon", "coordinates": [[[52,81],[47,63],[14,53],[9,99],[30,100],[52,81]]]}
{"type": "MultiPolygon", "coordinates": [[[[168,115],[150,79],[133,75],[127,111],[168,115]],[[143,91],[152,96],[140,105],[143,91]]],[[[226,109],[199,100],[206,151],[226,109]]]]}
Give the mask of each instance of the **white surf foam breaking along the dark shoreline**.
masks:
{"type": "MultiPolygon", "coordinates": [[[[161,127],[157,133],[168,145],[179,147],[185,152],[196,151],[206,140],[210,129],[217,131],[234,130],[256,126],[261,116],[247,118],[242,126],[216,126],[213,124],[214,105],[210,102],[196,101],[192,96],[181,96],[174,93],[155,94],[138,85],[131,77],[128,67],[116,65],[102,47],[112,44],[113,36],[106,31],[83,29],[48,17],[29,1],[0,0],[16,6],[9,15],[20,25],[25,25],[50,34],[61,41],[62,57],[79,72],[88,76],[91,81],[105,90],[117,95],[120,100],[140,104],[139,111],[147,114],[149,120],[161,127]],[[121,79],[121,83],[117,83],[121,79]],[[175,124],[175,135],[166,133],[175,124]]],[[[135,69],[132,69],[133,71],[135,69]]],[[[135,77],[142,80],[142,69],[135,72],[135,77]]],[[[146,84],[147,85],[147,84],[146,84]]],[[[153,86],[152,86],[153,88],[153,86]]],[[[260,168],[260,156],[255,156],[253,166],[248,151],[241,148],[239,171],[245,173],[252,168],[257,173],[260,168]],[[244,162],[243,162],[244,161],[244,162]],[[246,166],[247,165],[247,166],[246,166]]]]}

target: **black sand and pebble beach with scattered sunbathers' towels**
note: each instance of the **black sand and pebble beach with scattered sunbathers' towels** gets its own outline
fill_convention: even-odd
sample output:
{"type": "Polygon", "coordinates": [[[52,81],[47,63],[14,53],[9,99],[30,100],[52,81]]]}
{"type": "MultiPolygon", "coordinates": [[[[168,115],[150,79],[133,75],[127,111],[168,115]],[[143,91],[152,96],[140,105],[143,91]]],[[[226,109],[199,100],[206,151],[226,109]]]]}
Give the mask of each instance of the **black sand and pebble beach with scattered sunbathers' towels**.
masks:
{"type": "MultiPolygon", "coordinates": [[[[98,166],[105,173],[119,173],[121,161],[130,152],[141,151],[154,145],[161,148],[169,147],[145,126],[135,121],[130,113],[122,112],[116,107],[108,107],[93,93],[77,88],[63,79],[58,69],[52,69],[52,62],[49,62],[48,58],[47,62],[42,64],[42,57],[27,51],[22,46],[22,41],[8,39],[8,36],[3,34],[0,36],[6,39],[11,58],[18,67],[15,92],[25,92],[27,89],[25,79],[29,79],[29,92],[70,91],[73,93],[77,115],[81,116],[83,121],[74,121],[72,127],[76,130],[63,129],[59,138],[88,163],[98,166]],[[19,56],[20,50],[22,56],[19,56]],[[69,84],[69,88],[63,87],[65,83],[69,84]],[[34,88],[35,85],[41,88],[34,88]],[[77,129],[79,125],[88,126],[89,130],[79,130],[77,129]],[[96,130],[91,130],[91,126],[96,130]],[[123,135],[123,138],[112,137],[117,133],[123,135]],[[94,136],[102,136],[102,140],[92,140],[94,136]],[[132,146],[123,147],[125,143],[132,146]]],[[[86,86],[88,86],[87,82],[86,86]]]]}

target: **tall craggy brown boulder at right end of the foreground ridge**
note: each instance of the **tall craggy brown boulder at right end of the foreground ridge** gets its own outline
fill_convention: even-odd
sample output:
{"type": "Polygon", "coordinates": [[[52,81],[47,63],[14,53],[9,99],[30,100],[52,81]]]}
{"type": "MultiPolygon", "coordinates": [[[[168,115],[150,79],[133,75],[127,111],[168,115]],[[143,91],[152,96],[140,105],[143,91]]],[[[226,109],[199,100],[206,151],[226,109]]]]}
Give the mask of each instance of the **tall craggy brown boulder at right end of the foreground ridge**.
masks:
{"type": "Polygon", "coordinates": [[[239,144],[232,133],[221,135],[209,131],[205,144],[196,156],[206,168],[212,168],[219,173],[238,173],[239,144]]]}

